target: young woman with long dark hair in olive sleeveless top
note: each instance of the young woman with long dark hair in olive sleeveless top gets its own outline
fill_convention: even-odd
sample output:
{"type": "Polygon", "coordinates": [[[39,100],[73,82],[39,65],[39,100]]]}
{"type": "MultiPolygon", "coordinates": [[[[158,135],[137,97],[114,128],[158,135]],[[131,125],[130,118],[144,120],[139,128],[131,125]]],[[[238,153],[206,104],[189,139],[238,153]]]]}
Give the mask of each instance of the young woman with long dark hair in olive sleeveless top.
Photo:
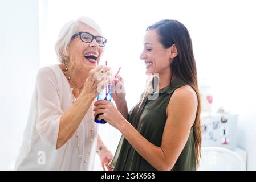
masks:
{"type": "Polygon", "coordinates": [[[200,94],[188,30],[168,19],[149,26],[140,59],[146,73],[155,76],[129,114],[125,94],[113,94],[117,109],[107,101],[94,104],[94,115],[101,113],[99,119],[123,134],[109,167],[196,170],[201,153],[200,94]]]}

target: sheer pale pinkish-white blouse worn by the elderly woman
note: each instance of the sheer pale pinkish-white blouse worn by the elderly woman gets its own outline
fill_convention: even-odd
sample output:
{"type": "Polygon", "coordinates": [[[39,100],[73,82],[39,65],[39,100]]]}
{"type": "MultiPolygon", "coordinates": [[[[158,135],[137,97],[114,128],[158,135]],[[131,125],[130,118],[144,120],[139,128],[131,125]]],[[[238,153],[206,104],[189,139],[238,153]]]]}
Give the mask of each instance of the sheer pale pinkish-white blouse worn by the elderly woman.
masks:
{"type": "Polygon", "coordinates": [[[59,65],[39,70],[15,169],[93,169],[98,127],[91,107],[78,127],[78,136],[74,134],[64,146],[56,149],[60,117],[74,100],[70,85],[59,65]]]}

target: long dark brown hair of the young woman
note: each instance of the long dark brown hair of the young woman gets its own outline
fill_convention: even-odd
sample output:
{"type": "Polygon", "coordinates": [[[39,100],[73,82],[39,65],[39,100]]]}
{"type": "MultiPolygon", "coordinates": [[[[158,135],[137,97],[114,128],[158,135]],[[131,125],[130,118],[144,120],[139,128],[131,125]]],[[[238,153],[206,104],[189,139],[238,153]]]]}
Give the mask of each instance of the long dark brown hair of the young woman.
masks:
{"type": "MultiPolygon", "coordinates": [[[[152,26],[149,26],[147,31],[151,29],[155,29],[157,31],[157,34],[159,35],[159,41],[164,46],[164,48],[169,48],[173,44],[175,44],[177,48],[178,55],[170,64],[170,70],[172,73],[170,82],[172,81],[173,76],[180,77],[189,86],[191,86],[197,94],[198,106],[196,119],[194,121],[193,134],[196,148],[196,164],[198,166],[201,156],[201,102],[197,84],[197,68],[192,48],[192,40],[186,27],[177,20],[161,20],[152,26]]],[[[151,83],[152,81],[153,79],[151,80],[151,83]]],[[[140,115],[142,106],[145,104],[145,101],[148,98],[148,93],[152,89],[151,83],[148,84],[142,101],[140,102],[139,109],[137,110],[136,114],[137,116],[140,115]]]]}

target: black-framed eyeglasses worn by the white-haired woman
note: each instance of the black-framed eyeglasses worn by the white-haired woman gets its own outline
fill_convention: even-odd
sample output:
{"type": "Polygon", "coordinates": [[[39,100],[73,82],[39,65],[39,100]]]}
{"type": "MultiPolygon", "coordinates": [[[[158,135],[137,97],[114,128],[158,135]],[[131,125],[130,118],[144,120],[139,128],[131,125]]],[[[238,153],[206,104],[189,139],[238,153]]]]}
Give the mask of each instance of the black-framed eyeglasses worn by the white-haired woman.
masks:
{"type": "Polygon", "coordinates": [[[71,39],[75,38],[78,35],[80,36],[80,39],[86,43],[91,43],[92,40],[95,39],[100,47],[104,47],[105,44],[107,43],[107,39],[103,38],[102,36],[94,36],[88,32],[78,32],[74,34],[71,39]]]}

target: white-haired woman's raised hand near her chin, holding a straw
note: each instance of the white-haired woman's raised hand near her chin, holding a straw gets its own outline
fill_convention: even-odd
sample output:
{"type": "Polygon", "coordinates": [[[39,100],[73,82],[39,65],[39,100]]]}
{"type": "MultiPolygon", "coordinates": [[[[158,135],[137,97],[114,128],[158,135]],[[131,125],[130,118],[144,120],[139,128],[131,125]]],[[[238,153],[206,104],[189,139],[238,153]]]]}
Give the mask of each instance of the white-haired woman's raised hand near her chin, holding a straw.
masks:
{"type": "Polygon", "coordinates": [[[83,92],[97,96],[107,84],[109,84],[112,75],[111,68],[99,65],[91,69],[89,76],[84,83],[83,92]]]}

